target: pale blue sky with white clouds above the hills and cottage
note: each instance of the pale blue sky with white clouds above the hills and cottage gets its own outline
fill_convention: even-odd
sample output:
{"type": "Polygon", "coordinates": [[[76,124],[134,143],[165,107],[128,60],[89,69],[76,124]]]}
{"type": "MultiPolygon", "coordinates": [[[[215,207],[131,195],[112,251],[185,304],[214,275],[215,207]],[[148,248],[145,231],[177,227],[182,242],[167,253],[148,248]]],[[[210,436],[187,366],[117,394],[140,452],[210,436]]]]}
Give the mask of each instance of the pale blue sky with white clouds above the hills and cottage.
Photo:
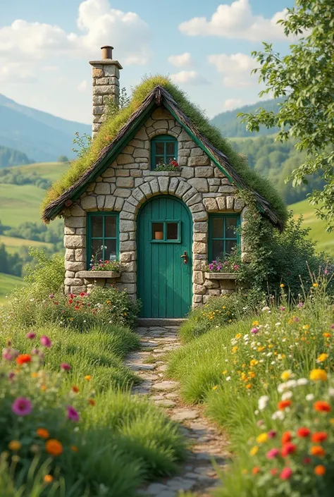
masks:
{"type": "Polygon", "coordinates": [[[91,122],[91,67],[112,44],[127,90],[171,75],[214,116],[258,100],[252,50],[289,42],[276,20],[292,0],[0,0],[0,93],[91,122]]]}

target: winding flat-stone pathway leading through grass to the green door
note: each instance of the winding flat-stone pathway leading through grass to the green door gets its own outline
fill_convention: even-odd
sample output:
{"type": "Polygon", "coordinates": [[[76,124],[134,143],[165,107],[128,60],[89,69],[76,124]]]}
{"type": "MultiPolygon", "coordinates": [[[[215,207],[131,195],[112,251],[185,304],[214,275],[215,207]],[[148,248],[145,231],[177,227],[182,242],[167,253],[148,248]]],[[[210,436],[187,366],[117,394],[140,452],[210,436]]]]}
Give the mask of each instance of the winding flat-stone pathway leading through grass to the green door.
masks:
{"type": "Polygon", "coordinates": [[[138,493],[143,496],[176,497],[181,490],[191,490],[197,496],[209,497],[211,491],[221,485],[212,460],[215,460],[219,470],[223,470],[230,456],[227,440],[202,415],[201,407],[189,407],[182,403],[178,395],[178,381],[165,378],[166,352],[180,346],[178,328],[151,326],[138,328],[137,331],[141,336],[142,350],[133,352],[126,361],[128,367],[142,379],[133,392],[149,395],[154,403],[163,407],[171,419],[180,423],[189,441],[188,457],[180,468],[180,474],[148,484],[138,493]]]}

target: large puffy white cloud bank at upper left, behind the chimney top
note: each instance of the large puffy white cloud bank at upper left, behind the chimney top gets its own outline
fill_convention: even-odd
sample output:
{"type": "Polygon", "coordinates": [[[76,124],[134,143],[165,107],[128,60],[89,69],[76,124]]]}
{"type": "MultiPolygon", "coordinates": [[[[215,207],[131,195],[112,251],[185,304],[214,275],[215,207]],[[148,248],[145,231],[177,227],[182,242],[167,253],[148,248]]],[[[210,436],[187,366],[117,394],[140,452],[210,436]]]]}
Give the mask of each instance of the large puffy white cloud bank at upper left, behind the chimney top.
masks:
{"type": "Polygon", "coordinates": [[[149,57],[149,26],[136,13],[111,8],[108,0],[85,0],[79,6],[79,34],[45,23],[15,20],[0,28],[0,61],[69,57],[99,59],[99,47],[112,42],[125,64],[144,64],[149,57]]]}

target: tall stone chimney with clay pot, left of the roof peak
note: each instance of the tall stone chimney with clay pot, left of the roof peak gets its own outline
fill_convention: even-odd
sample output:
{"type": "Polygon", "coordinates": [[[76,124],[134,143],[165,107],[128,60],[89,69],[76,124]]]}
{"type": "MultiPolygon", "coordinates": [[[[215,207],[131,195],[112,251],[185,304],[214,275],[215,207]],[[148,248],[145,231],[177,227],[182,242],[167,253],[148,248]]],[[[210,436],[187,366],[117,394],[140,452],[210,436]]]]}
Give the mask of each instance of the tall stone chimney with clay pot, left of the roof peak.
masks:
{"type": "Polygon", "coordinates": [[[120,69],[118,61],[113,61],[113,47],[101,47],[101,61],[90,61],[93,78],[93,125],[92,138],[97,134],[101,123],[106,119],[107,103],[112,99],[116,105],[120,97],[120,69]]]}

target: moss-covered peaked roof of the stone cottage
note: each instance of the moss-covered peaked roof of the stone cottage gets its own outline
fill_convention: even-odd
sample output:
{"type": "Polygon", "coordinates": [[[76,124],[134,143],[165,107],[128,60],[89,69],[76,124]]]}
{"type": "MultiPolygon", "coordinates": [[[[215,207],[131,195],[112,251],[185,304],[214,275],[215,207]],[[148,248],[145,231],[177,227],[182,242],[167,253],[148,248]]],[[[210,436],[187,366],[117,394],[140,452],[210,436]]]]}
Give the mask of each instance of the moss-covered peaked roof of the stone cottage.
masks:
{"type": "Polygon", "coordinates": [[[273,185],[247,166],[247,161],[209,124],[184,92],[168,78],[159,75],[145,79],[135,88],[130,104],[101,125],[87,152],[73,161],[68,172],[51,186],[42,204],[42,219],[49,222],[75,202],[116,159],[151,112],[161,105],[171,112],[237,188],[254,192],[259,210],[282,229],[287,208],[273,185]]]}

